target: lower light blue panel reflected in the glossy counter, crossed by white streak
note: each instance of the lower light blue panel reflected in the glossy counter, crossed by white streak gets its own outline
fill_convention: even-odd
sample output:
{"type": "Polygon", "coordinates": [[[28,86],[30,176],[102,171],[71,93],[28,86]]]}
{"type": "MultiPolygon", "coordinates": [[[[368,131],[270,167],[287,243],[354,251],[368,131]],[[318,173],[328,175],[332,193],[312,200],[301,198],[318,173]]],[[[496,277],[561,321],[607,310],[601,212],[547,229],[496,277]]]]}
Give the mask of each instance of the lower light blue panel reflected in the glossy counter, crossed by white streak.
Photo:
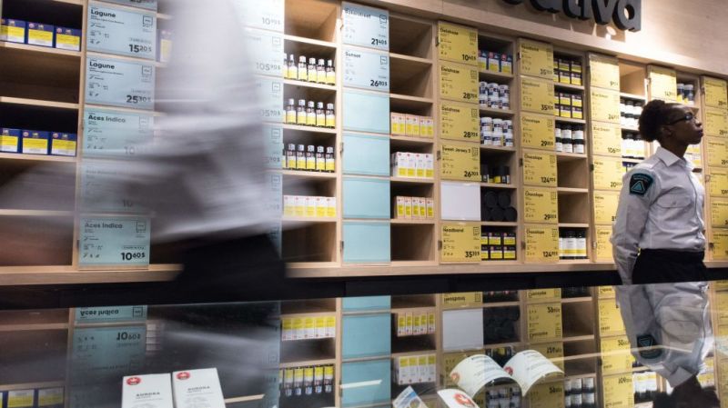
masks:
{"type": "Polygon", "coordinates": [[[341,405],[373,405],[391,401],[391,363],[386,360],[341,365],[341,405]]]}

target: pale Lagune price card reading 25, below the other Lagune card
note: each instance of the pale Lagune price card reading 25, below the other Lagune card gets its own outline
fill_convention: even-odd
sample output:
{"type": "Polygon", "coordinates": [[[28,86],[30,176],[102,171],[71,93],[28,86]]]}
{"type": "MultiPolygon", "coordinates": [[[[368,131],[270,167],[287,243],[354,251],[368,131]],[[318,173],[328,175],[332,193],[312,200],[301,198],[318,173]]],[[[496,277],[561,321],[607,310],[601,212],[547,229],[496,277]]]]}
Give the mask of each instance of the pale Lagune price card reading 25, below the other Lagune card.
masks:
{"type": "Polygon", "coordinates": [[[154,109],[155,67],[110,58],[86,60],[86,103],[154,109]]]}

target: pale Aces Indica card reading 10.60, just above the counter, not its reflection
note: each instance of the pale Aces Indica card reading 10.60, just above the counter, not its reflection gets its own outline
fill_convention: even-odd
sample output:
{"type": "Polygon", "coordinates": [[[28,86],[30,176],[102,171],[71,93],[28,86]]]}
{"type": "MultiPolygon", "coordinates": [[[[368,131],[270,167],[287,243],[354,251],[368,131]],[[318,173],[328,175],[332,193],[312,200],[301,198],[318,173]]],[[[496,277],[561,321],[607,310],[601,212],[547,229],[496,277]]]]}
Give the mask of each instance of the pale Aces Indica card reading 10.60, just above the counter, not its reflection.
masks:
{"type": "Polygon", "coordinates": [[[79,264],[148,265],[149,224],[145,217],[82,217],[79,264]]]}

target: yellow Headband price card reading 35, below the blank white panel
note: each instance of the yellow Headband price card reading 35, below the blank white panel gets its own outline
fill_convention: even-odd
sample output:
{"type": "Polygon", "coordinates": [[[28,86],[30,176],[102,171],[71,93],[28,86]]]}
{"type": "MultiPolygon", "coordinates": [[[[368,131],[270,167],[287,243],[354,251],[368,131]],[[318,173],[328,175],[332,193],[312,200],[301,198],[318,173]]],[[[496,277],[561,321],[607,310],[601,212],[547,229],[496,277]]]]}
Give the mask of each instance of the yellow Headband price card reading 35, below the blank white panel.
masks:
{"type": "Polygon", "coordinates": [[[460,264],[480,263],[480,225],[443,224],[441,261],[460,264]]]}

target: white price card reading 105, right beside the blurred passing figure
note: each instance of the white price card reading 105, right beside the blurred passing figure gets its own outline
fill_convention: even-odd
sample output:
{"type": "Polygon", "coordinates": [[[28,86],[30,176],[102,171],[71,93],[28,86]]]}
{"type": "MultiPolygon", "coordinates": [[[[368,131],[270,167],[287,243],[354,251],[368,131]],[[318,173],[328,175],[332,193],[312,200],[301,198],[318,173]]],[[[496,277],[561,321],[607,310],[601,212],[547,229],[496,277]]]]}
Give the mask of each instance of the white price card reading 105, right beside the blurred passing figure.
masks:
{"type": "Polygon", "coordinates": [[[254,74],[283,76],[283,35],[268,31],[245,30],[250,70],[254,74]]]}

